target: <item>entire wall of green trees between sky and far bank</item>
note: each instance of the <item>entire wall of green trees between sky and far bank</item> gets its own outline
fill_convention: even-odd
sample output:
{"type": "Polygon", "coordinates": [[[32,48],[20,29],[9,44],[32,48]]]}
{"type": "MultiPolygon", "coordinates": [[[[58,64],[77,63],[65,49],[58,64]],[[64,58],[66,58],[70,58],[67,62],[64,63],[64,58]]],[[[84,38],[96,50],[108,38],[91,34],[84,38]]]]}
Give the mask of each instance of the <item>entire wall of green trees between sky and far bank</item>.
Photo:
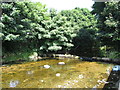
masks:
{"type": "Polygon", "coordinates": [[[119,4],[95,3],[91,14],[85,8],[48,10],[38,2],[1,3],[3,55],[38,51],[92,57],[103,55],[106,47],[120,51],[119,4]]]}

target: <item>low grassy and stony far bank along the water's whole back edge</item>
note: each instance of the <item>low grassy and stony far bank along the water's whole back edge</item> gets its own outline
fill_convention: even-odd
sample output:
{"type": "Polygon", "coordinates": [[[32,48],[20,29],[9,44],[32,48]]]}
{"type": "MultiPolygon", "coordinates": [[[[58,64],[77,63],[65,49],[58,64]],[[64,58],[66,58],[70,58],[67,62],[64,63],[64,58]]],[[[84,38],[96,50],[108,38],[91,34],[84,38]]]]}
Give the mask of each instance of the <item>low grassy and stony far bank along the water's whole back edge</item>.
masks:
{"type": "Polygon", "coordinates": [[[106,57],[80,57],[71,54],[38,54],[37,52],[24,52],[24,53],[17,53],[17,54],[8,54],[3,57],[2,64],[20,64],[24,62],[31,62],[31,61],[41,61],[46,59],[64,59],[64,58],[75,58],[80,59],[83,61],[90,61],[90,62],[106,62],[112,64],[120,65],[120,59],[110,59],[106,57]]]}

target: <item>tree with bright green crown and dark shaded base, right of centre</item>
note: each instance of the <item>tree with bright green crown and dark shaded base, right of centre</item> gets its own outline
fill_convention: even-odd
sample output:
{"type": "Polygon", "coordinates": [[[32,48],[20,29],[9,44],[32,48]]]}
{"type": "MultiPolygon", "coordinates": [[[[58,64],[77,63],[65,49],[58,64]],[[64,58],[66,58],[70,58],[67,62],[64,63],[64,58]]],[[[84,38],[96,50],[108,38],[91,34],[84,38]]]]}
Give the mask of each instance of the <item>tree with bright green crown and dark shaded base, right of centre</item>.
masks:
{"type": "Polygon", "coordinates": [[[77,36],[73,39],[72,54],[80,56],[96,56],[99,53],[99,44],[96,40],[97,20],[86,8],[63,10],[61,15],[67,18],[77,36]]]}

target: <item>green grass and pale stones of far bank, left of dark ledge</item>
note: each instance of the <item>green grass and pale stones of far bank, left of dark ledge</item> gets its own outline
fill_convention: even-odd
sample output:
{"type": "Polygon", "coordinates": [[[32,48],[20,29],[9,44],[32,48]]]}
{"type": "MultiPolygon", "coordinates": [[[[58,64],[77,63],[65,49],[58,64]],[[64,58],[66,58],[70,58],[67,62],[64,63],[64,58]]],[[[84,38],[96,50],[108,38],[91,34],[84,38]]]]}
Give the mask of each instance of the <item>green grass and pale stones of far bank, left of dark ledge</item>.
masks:
{"type": "Polygon", "coordinates": [[[64,59],[64,58],[76,58],[78,56],[70,54],[38,54],[37,52],[22,52],[22,53],[7,53],[2,57],[2,63],[4,64],[20,64],[31,61],[41,61],[46,59],[64,59]]]}

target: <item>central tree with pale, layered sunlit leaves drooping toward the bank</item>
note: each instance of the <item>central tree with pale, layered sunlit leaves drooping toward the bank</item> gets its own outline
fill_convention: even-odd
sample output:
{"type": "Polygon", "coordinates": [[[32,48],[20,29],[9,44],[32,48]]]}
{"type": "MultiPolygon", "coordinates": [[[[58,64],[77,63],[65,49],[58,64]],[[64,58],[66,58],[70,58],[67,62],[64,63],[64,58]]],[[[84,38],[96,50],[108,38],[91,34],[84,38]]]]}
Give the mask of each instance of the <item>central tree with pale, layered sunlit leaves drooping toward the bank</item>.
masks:
{"type": "Polygon", "coordinates": [[[61,50],[67,51],[73,46],[72,38],[76,34],[73,32],[73,28],[68,25],[66,17],[57,14],[57,16],[52,16],[50,20],[42,23],[45,32],[39,37],[42,40],[40,50],[51,53],[61,50]]]}

